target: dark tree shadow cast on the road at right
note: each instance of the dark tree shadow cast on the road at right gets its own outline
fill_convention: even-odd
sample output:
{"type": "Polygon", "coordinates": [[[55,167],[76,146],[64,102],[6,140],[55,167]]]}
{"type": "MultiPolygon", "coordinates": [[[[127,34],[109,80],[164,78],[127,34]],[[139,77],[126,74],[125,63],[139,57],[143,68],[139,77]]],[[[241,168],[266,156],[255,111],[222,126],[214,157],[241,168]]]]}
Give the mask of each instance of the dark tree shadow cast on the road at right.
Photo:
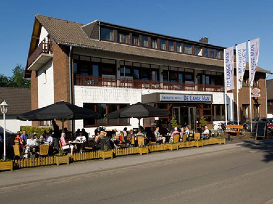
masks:
{"type": "Polygon", "coordinates": [[[243,147],[247,147],[253,150],[257,150],[259,152],[265,153],[263,162],[273,161],[273,140],[270,140],[271,143],[268,142],[258,142],[257,140],[244,140],[243,144],[240,144],[243,147]]]}

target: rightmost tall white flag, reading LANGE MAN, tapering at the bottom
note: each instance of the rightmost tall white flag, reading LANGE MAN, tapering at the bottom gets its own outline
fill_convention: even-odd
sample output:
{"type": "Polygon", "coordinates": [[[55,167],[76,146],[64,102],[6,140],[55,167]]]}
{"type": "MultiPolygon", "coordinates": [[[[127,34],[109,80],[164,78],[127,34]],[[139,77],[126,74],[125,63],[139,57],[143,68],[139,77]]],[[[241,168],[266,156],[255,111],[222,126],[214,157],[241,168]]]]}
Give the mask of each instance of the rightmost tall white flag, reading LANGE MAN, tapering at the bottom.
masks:
{"type": "Polygon", "coordinates": [[[248,41],[249,85],[253,85],[260,52],[260,38],[248,41]]]}

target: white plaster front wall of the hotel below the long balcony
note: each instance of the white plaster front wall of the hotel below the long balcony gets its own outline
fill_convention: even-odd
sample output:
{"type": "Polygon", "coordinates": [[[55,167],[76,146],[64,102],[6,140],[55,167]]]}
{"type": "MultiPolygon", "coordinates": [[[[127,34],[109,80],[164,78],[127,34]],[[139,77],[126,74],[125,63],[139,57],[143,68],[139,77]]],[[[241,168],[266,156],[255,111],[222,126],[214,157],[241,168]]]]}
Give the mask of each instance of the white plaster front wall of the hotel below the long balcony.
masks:
{"type": "MultiPolygon", "coordinates": [[[[170,93],[170,94],[197,94],[192,91],[168,91],[152,89],[126,89],[126,88],[109,88],[109,87],[91,87],[91,86],[74,86],[75,105],[83,107],[83,103],[129,103],[134,104],[141,102],[141,95],[151,93],[170,93]]],[[[224,93],[215,92],[198,92],[198,94],[212,94],[213,104],[224,104],[224,93]]],[[[233,101],[233,94],[227,94],[227,104],[229,117],[233,118],[233,111],[230,110],[230,103],[233,101]],[[230,114],[232,112],[232,114],[230,114]]],[[[141,124],[142,119],[141,119],[141,124]]],[[[75,129],[83,128],[83,120],[75,121],[75,129]]],[[[125,126],[107,126],[108,129],[123,129],[125,126]]],[[[126,126],[129,130],[138,127],[138,119],[131,118],[130,125],[126,126]]],[[[92,135],[95,128],[85,128],[92,135]]]]}

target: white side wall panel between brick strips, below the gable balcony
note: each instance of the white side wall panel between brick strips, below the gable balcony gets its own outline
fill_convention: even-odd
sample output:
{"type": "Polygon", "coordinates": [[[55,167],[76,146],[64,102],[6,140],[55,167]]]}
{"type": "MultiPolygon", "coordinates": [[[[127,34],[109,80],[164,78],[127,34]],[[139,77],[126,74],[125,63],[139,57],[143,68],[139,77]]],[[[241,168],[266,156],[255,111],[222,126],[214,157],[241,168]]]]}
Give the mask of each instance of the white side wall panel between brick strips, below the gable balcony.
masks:
{"type": "Polygon", "coordinates": [[[47,62],[40,70],[38,76],[38,108],[54,103],[53,61],[47,62]],[[44,73],[46,72],[46,74],[44,73]],[[46,77],[45,77],[46,75],[46,77]]]}

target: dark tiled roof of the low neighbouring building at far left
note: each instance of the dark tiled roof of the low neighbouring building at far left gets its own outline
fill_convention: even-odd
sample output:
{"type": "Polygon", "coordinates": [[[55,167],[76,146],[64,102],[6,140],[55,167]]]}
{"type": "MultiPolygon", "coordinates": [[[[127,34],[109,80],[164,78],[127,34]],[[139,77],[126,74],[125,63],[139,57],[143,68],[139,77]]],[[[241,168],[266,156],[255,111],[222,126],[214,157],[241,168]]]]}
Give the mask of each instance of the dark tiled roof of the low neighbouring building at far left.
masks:
{"type": "Polygon", "coordinates": [[[31,110],[30,89],[0,87],[0,103],[6,101],[7,115],[19,115],[31,110]]]}

